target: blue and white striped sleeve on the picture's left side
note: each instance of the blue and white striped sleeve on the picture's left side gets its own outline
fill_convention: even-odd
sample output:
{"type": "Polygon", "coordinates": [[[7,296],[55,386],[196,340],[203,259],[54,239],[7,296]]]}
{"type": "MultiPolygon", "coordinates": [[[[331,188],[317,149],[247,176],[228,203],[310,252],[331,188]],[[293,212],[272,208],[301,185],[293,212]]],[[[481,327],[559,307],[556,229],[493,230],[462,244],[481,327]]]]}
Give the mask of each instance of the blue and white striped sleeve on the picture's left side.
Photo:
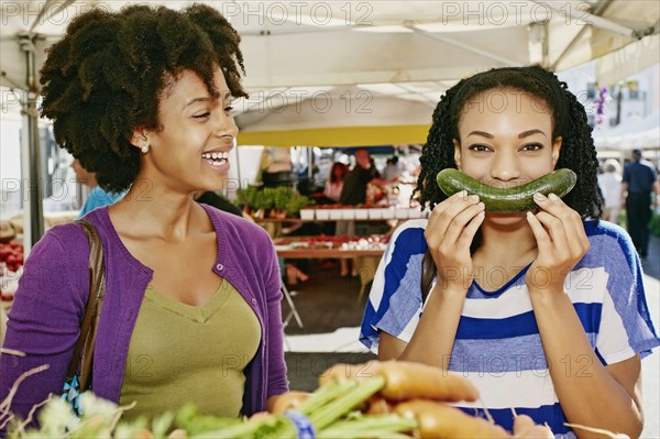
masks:
{"type": "Polygon", "coordinates": [[[421,260],[427,220],[411,220],[393,234],[374,276],[362,320],[360,341],[378,351],[380,331],[408,342],[421,312],[421,260]]]}

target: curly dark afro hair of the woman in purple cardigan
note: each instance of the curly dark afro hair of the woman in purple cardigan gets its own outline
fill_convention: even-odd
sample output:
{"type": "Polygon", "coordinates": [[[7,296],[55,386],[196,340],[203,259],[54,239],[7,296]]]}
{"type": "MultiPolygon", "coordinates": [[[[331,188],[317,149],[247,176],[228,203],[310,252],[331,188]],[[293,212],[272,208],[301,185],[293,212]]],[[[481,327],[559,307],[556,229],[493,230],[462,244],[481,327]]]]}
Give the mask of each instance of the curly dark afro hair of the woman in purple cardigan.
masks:
{"type": "Polygon", "coordinates": [[[241,37],[217,10],[193,4],[183,11],[133,6],[100,9],[76,18],[48,50],[41,70],[41,113],[53,120],[57,143],[99,186],[122,191],[140,169],[135,129],[161,130],[158,103],[184,70],[204,80],[218,98],[213,69],[220,66],[235,98],[248,95],[241,37]]]}

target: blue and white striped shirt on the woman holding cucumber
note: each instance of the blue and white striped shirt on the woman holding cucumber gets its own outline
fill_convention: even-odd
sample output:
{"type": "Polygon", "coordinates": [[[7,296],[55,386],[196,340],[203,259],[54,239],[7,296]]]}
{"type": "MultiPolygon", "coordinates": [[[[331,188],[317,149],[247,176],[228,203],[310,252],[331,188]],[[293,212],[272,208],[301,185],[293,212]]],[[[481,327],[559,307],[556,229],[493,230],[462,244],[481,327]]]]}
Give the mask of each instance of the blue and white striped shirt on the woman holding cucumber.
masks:
{"type": "MultiPolygon", "coordinates": [[[[410,220],[394,233],[375,274],[361,328],[361,341],[377,353],[378,333],[409,342],[422,312],[421,260],[427,250],[427,220],[410,220]]],[[[639,259],[619,227],[585,222],[587,254],[564,284],[586,336],[603,364],[613,364],[660,344],[650,320],[639,259]]],[[[574,438],[554,393],[543,347],[525,283],[528,267],[518,267],[496,292],[470,286],[461,314],[449,370],[461,372],[480,391],[495,421],[513,429],[514,415],[548,422],[557,437],[574,438]],[[520,270],[521,268],[521,270],[520,270]]],[[[502,278],[505,268],[486,273],[502,278]]],[[[483,277],[482,277],[483,278],[483,277]]],[[[588,373],[587,359],[572,359],[554,367],[588,373]]],[[[458,404],[484,416],[482,403],[458,404]]]]}

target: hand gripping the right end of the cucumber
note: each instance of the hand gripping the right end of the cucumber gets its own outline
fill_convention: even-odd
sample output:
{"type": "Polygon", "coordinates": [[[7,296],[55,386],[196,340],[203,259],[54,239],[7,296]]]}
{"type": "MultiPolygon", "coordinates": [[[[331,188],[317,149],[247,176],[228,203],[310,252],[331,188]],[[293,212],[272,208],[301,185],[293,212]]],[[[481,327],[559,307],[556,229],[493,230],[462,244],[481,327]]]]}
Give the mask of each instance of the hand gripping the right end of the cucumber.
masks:
{"type": "Polygon", "coordinates": [[[573,266],[590,249],[580,213],[568,207],[558,196],[536,194],[539,211],[527,212],[527,221],[537,240],[539,254],[525,281],[531,292],[562,292],[573,266]]]}

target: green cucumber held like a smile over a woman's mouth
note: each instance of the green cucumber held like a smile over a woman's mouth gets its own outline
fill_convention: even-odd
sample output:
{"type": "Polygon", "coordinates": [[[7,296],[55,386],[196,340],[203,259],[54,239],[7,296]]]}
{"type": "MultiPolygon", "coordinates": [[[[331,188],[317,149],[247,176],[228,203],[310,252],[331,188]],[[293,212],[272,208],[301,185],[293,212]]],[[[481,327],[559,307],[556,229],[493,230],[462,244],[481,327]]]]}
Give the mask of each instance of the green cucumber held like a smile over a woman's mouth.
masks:
{"type": "Polygon", "coordinates": [[[479,195],[487,211],[513,213],[536,208],[537,205],[534,202],[536,193],[563,197],[575,186],[578,176],[571,169],[557,169],[525,185],[505,188],[485,185],[459,169],[448,168],[440,171],[436,180],[448,197],[466,190],[468,194],[479,195]]]}

